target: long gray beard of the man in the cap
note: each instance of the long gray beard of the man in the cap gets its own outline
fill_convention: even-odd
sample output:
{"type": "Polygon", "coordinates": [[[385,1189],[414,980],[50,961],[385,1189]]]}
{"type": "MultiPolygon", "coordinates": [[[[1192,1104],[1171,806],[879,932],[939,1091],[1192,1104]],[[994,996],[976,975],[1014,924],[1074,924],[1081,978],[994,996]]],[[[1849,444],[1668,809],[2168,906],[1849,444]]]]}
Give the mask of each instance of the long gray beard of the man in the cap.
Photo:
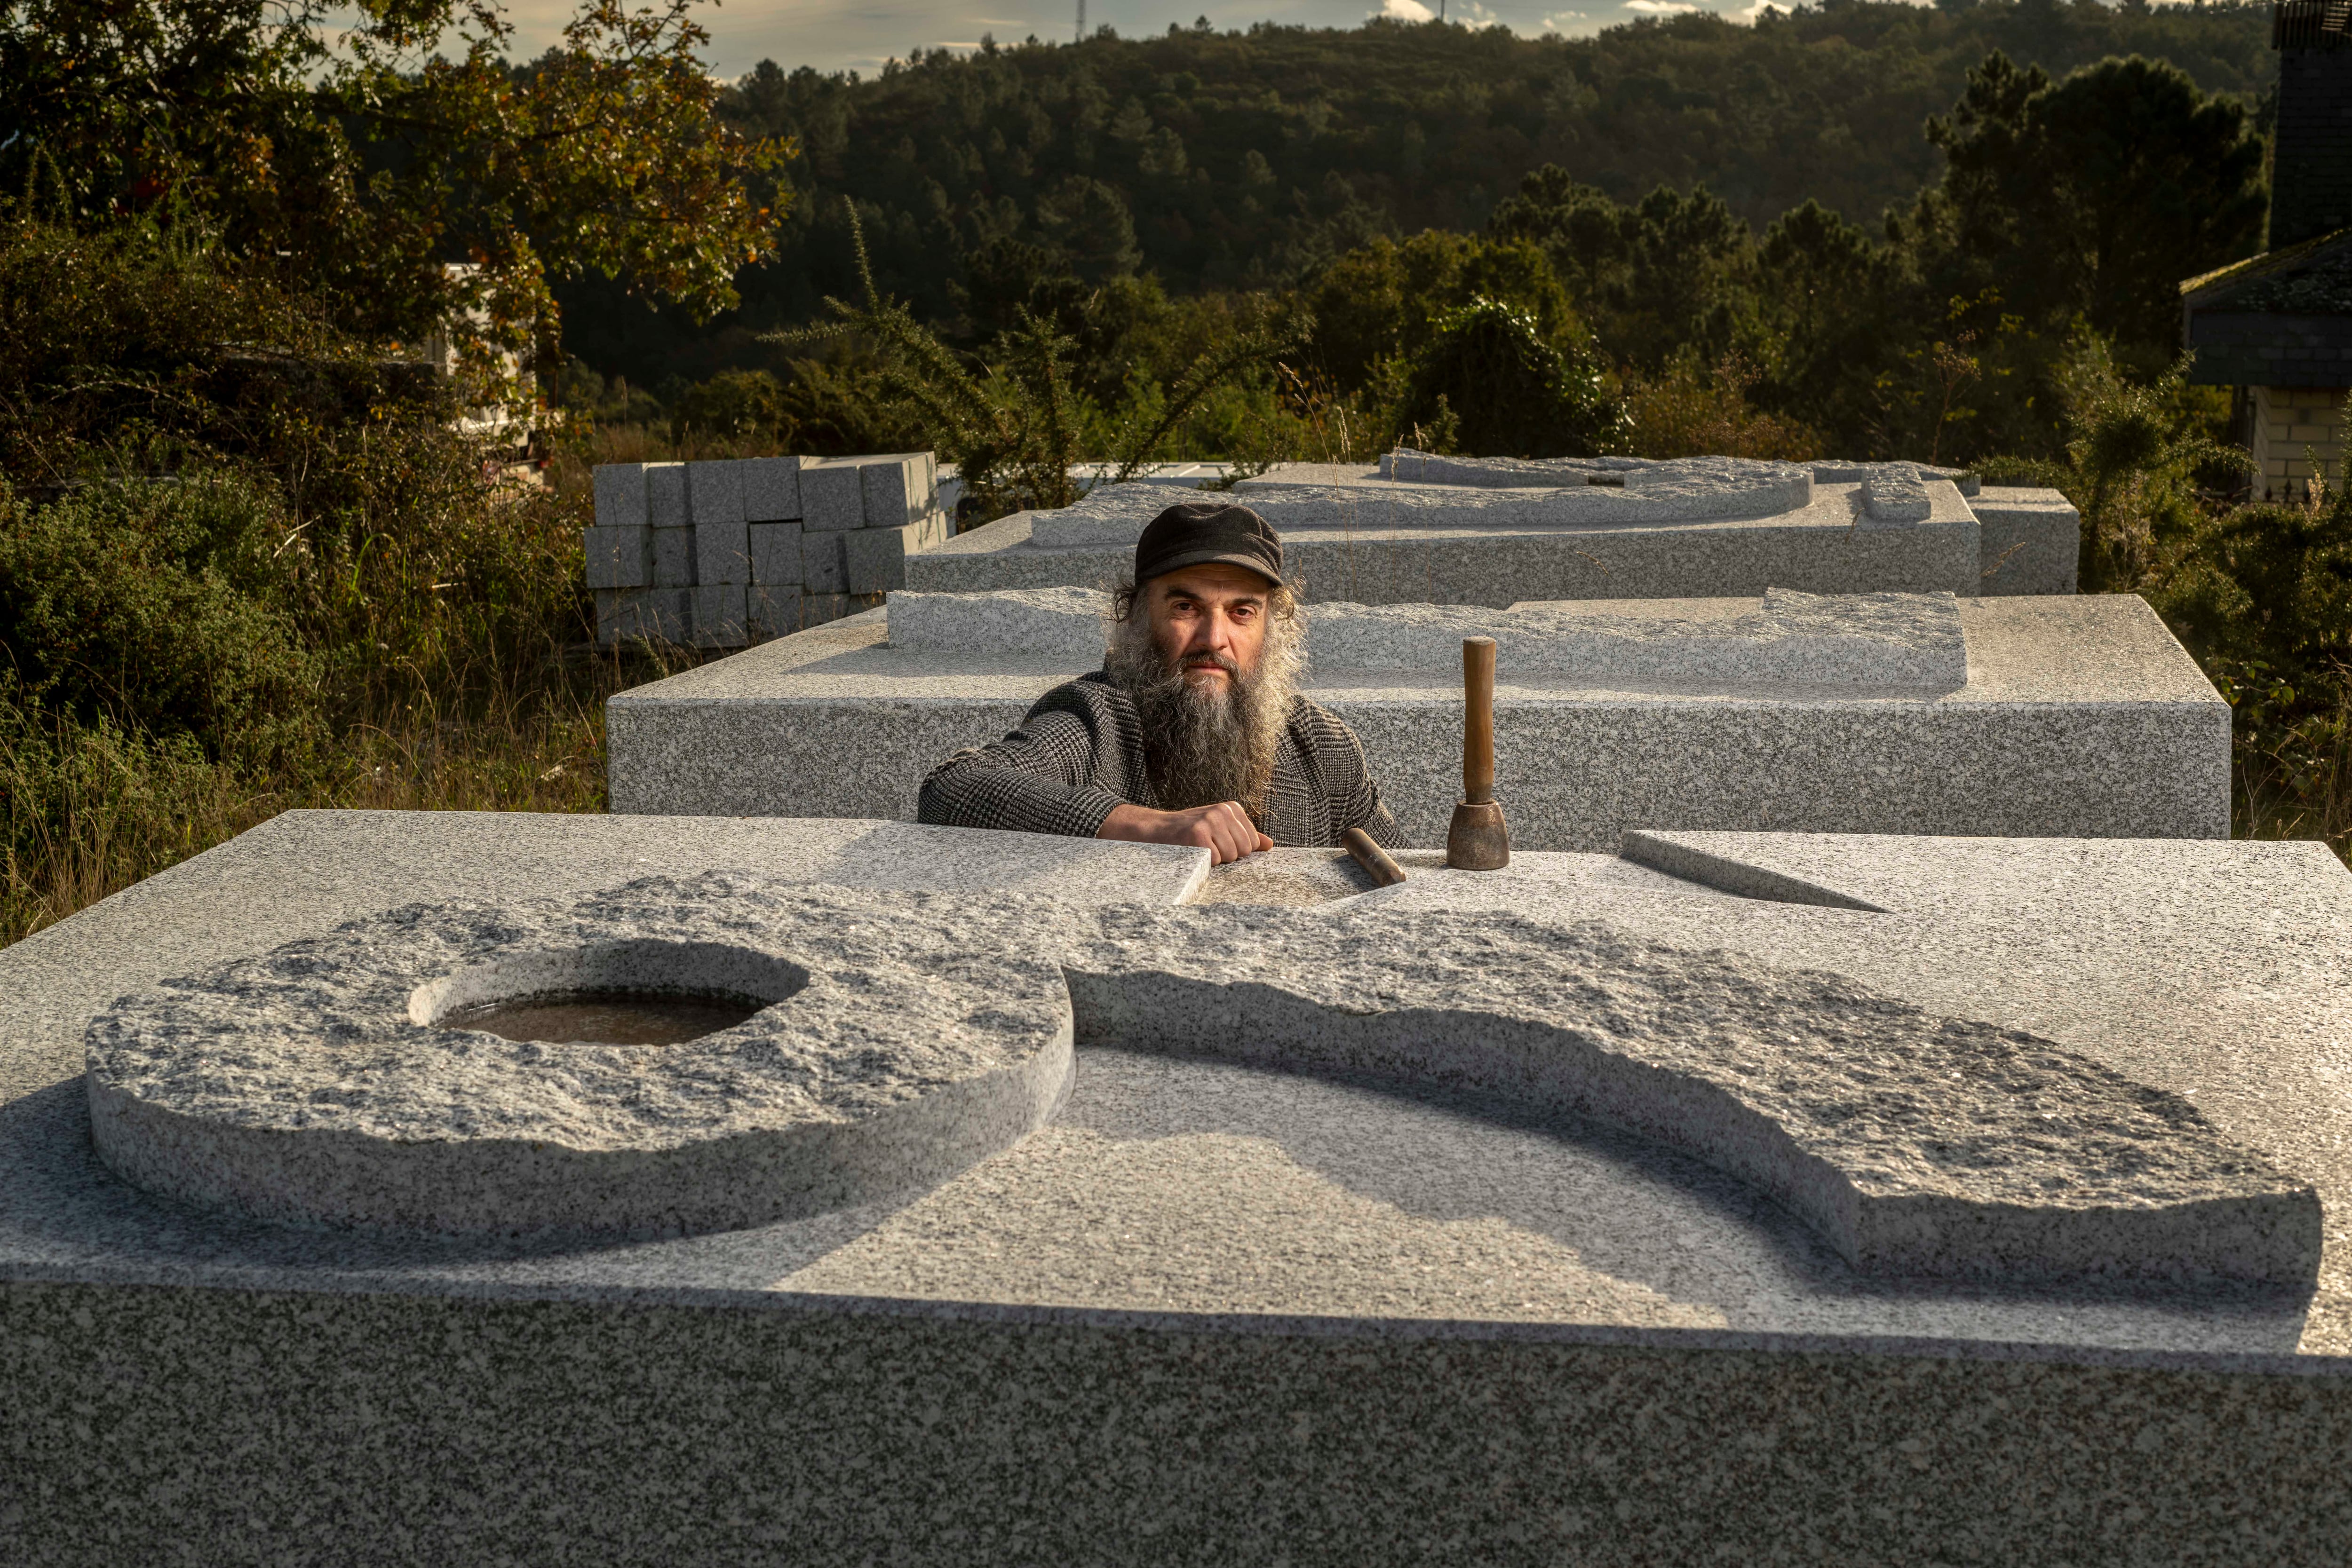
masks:
{"type": "Polygon", "coordinates": [[[1265,825],[1265,795],[1291,698],[1298,696],[1301,663],[1298,625],[1275,618],[1256,670],[1195,686],[1181,665],[1160,654],[1141,604],[1110,628],[1103,672],[1143,715],[1143,759],[1162,811],[1237,799],[1251,820],[1265,825]]]}

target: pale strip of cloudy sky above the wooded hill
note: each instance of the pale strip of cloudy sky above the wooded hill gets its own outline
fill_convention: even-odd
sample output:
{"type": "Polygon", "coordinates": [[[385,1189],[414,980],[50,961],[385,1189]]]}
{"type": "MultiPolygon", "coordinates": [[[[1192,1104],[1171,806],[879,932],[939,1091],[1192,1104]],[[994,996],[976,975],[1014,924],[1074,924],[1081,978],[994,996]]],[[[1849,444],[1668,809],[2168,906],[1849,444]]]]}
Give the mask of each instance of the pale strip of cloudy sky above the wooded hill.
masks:
{"type": "MultiPolygon", "coordinates": [[[[1254,21],[1277,21],[1284,26],[1352,28],[1364,16],[1383,7],[1390,16],[1423,21],[1446,7],[1451,21],[1503,24],[1512,33],[1529,38],[1538,33],[1597,33],[1637,16],[1663,16],[1672,12],[1724,12],[1745,19],[1750,0],[1569,0],[1583,9],[1569,9],[1559,0],[1261,0],[1258,5],[1204,5],[1204,0],[1087,0],[1087,26],[1112,26],[1122,38],[1143,33],[1167,33],[1171,21],[1190,26],[1195,16],[1207,16],[1218,31],[1247,28],[1254,21]]],[[[508,16],[515,21],[515,52],[532,56],[555,42],[562,24],[572,16],[576,0],[508,0],[508,16]]],[[[993,33],[997,42],[1021,42],[1030,33],[1037,38],[1070,38],[1077,24],[1077,2],[1047,7],[1025,0],[722,0],[696,7],[699,21],[710,31],[706,52],[710,68],[722,78],[734,78],[762,59],[774,59],[786,71],[816,66],[818,71],[873,73],[887,59],[903,59],[910,49],[969,49],[993,33]]]]}

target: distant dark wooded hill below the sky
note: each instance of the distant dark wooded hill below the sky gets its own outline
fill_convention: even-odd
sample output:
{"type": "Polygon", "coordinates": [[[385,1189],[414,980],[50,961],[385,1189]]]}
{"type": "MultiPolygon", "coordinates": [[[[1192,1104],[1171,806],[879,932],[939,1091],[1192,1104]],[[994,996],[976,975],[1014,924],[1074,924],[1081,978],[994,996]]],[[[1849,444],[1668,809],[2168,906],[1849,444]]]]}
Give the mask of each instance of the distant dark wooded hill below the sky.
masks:
{"type": "Polygon", "coordinates": [[[781,254],[710,327],[572,287],[567,348],[640,386],[762,362],[753,331],[851,287],[842,195],[882,287],[941,322],[960,284],[1040,252],[1171,292],[1294,282],[1376,233],[1477,228],[1543,162],[1618,200],[1705,183],[1757,228],[1806,197],[1875,226],[1936,176],[1922,122],[1992,49],[2051,75],[2145,54],[2249,103],[2274,78],[2267,5],[2145,0],[1830,0],[1578,40],[1171,28],[922,54],[870,80],[762,61],[724,113],[802,146],[781,254]]]}

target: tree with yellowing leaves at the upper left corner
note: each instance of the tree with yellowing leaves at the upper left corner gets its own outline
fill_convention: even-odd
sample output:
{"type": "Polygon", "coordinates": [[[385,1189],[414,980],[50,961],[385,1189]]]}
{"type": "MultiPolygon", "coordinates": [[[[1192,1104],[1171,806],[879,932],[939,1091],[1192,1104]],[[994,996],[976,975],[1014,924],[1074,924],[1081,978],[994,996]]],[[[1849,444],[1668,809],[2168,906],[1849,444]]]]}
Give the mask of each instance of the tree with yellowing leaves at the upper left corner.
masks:
{"type": "Polygon", "coordinates": [[[5,0],[0,174],[85,226],[162,202],[341,327],[454,327],[482,369],[553,334],[555,277],[736,303],[788,148],[713,118],[689,0],[588,0],[524,68],[510,38],[496,0],[5,0]]]}

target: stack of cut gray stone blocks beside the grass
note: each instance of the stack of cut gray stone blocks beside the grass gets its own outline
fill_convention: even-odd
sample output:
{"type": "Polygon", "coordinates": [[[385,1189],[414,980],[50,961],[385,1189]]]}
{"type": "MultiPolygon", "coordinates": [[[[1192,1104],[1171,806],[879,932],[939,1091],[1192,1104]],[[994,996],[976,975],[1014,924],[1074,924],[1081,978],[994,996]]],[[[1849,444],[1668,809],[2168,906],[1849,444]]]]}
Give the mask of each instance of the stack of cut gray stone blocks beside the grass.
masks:
{"type": "Polygon", "coordinates": [[[741,649],[868,609],[948,538],[929,451],[604,463],[588,588],[597,642],[741,649]]]}

